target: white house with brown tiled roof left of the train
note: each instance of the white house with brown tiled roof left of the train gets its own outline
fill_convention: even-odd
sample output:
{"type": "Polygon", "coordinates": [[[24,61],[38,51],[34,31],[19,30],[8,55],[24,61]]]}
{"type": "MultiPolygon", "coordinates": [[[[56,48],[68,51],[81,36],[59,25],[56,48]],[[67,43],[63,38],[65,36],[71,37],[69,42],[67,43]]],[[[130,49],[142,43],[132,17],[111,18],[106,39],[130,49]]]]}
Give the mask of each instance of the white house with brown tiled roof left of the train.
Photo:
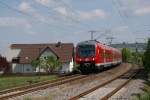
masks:
{"type": "MultiPolygon", "coordinates": [[[[73,70],[73,43],[52,44],[12,44],[11,49],[16,53],[12,59],[13,73],[32,73],[38,69],[32,67],[34,59],[54,56],[63,62],[59,71],[71,72],[73,70]]],[[[41,71],[44,72],[43,69],[41,71]]]]}

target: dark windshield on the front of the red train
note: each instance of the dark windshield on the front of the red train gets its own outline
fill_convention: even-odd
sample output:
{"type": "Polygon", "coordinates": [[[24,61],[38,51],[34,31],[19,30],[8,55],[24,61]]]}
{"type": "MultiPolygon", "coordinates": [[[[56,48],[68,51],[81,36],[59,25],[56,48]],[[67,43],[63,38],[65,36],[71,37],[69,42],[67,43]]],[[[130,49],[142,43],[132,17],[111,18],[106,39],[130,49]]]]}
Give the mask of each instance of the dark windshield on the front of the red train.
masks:
{"type": "Polygon", "coordinates": [[[80,57],[94,57],[95,45],[80,45],[78,46],[78,53],[80,57]]]}

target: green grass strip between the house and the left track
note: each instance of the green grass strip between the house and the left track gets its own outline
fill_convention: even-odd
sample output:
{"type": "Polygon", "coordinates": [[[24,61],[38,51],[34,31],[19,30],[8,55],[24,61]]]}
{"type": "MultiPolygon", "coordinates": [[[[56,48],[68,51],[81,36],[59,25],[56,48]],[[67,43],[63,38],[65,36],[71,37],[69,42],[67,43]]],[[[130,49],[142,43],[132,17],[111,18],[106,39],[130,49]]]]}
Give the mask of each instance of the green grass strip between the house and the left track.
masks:
{"type": "Polygon", "coordinates": [[[2,77],[0,76],[0,90],[9,89],[17,86],[29,85],[37,82],[42,82],[46,80],[57,79],[56,75],[47,75],[47,76],[10,76],[2,77]]]}

